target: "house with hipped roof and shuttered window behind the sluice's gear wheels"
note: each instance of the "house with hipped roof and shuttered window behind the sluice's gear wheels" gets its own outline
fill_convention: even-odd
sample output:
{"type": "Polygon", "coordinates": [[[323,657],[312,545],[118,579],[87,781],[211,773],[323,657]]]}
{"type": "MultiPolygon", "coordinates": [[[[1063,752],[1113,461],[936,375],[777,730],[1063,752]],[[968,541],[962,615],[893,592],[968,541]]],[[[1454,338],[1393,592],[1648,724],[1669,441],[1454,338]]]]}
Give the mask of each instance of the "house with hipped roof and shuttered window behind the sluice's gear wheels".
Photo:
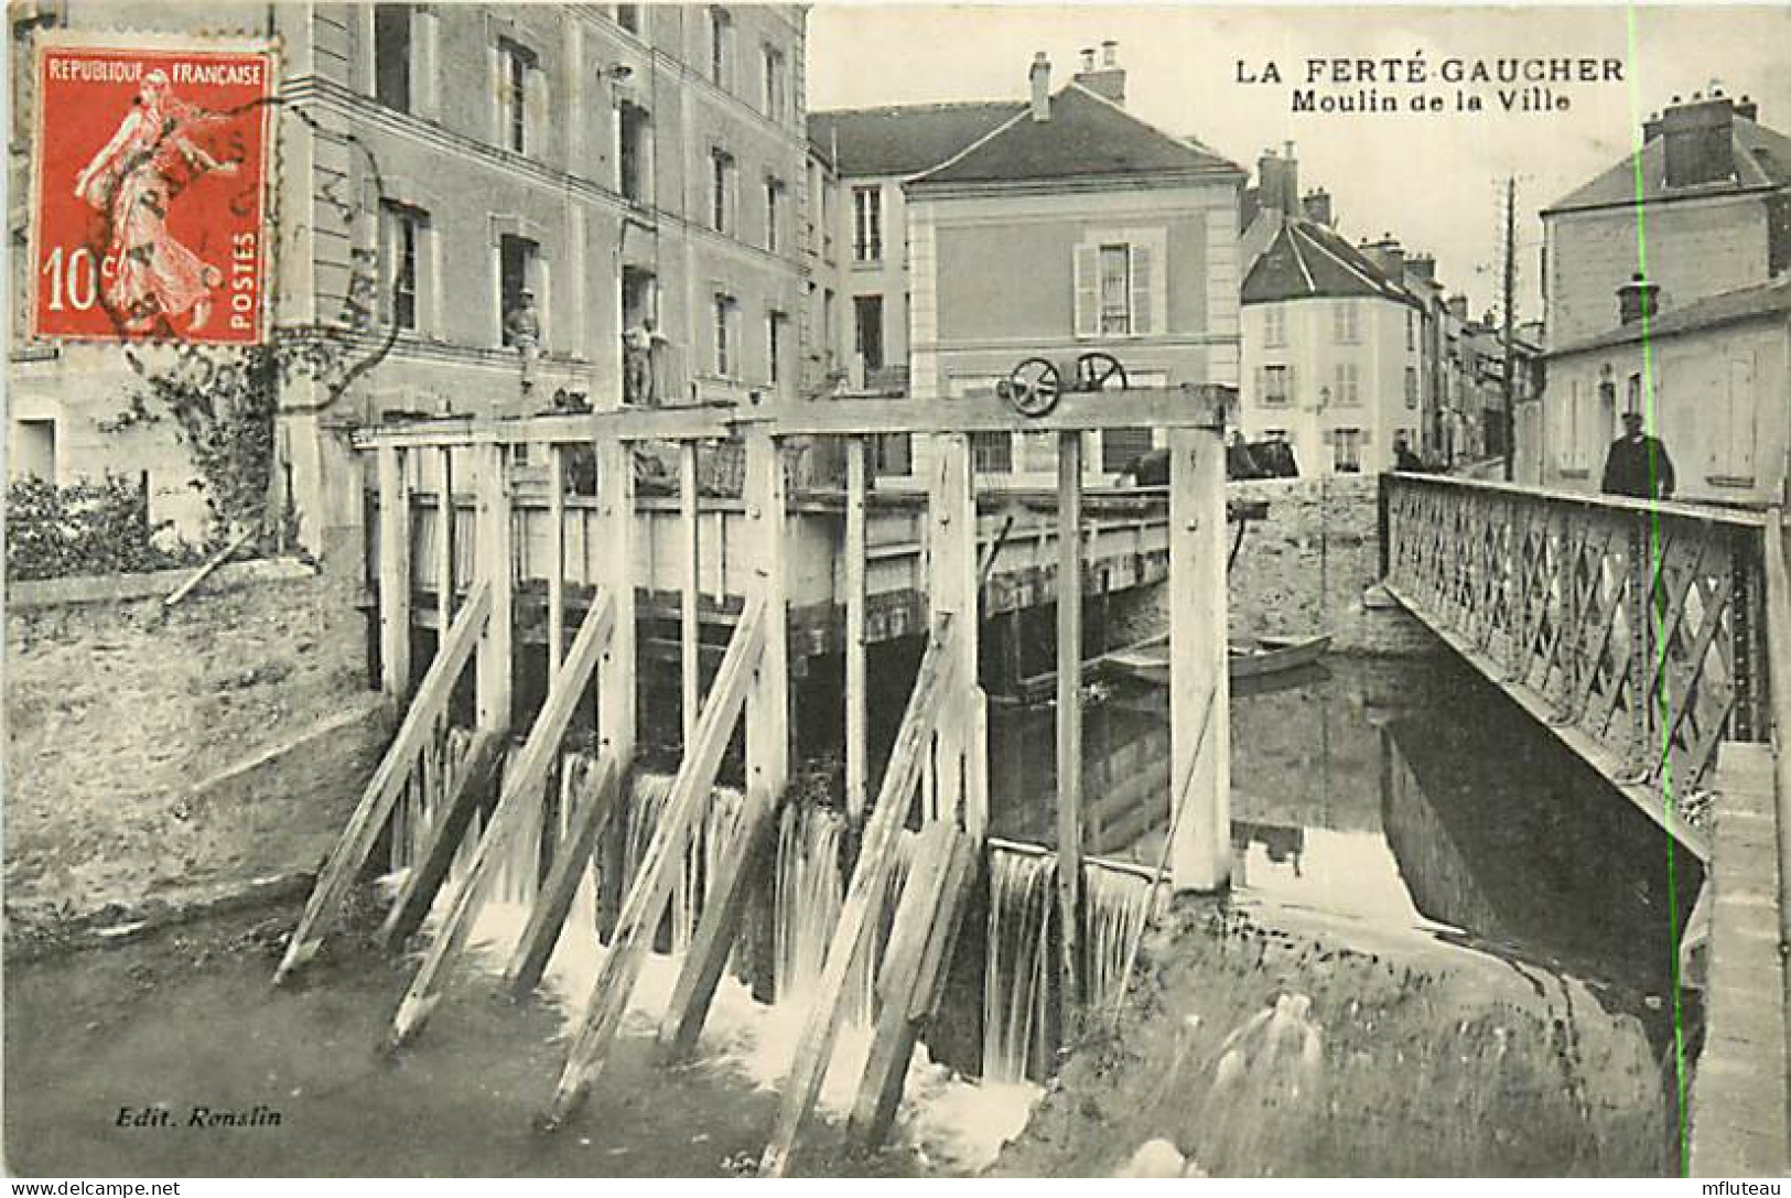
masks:
{"type": "MultiPolygon", "coordinates": [[[[1107,353],[1135,387],[1238,381],[1238,188],[1243,170],[1123,107],[1114,47],[985,138],[910,179],[910,387],[992,392],[1024,358],[1107,353]]],[[[1119,471],[1150,430],[1105,433],[1091,469],[1119,471]]],[[[1041,475],[1055,451],[985,437],[978,467],[1041,475]]]]}

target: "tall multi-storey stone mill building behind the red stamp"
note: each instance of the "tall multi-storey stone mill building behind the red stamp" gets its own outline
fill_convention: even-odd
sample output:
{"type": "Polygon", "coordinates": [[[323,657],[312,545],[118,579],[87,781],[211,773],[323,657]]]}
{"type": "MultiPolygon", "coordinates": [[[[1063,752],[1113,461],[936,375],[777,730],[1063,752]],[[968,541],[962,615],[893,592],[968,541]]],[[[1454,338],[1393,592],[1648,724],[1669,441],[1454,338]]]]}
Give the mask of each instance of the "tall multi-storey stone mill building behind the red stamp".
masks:
{"type": "MultiPolygon", "coordinates": [[[[226,2],[201,18],[97,2],[14,9],[14,25],[27,122],[14,129],[25,133],[13,140],[14,195],[29,193],[18,149],[38,30],[127,39],[202,25],[278,39],[276,335],[322,331],[344,353],[378,356],[340,396],[303,380],[281,394],[276,475],[313,548],[358,526],[355,426],[390,412],[620,401],[623,333],[648,317],[641,399],[793,396],[806,342],[822,337],[799,249],[813,222],[801,5],[226,2]],[[349,328],[364,287],[376,312],[349,328]],[[505,328],[523,290],[539,315],[527,387],[505,328]]],[[[23,211],[13,210],[16,258],[23,211]]],[[[129,457],[156,462],[158,492],[190,491],[165,432],[134,430],[143,444],[95,432],[129,385],[115,347],[27,346],[18,333],[14,419],[52,423],[59,480],[129,457]]],[[[176,507],[193,523],[190,503],[176,507]]]]}

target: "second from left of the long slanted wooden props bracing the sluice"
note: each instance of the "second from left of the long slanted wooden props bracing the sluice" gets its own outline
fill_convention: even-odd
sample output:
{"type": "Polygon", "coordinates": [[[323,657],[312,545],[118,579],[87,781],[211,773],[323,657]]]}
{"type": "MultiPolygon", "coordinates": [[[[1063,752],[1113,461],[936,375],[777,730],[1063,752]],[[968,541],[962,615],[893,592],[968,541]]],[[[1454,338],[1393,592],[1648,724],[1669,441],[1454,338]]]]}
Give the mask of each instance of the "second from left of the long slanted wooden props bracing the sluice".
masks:
{"type": "Polygon", "coordinates": [[[435,1001],[441,997],[437,985],[442,969],[466,942],[473,915],[485,897],[485,881],[501,860],[501,851],[509,847],[510,838],[523,826],[527,806],[541,800],[541,786],[546,781],[548,766],[559,752],[561,738],[571,722],[571,713],[577,709],[586,682],[591,680],[596,657],[609,641],[614,627],[616,603],[605,587],[598,591],[596,602],[586,612],[584,623],[578,627],[578,636],[573,638],[571,652],[566,655],[566,668],[553,680],[553,686],[548,688],[548,697],[541,704],[541,715],[536,716],[534,725],[528,729],[528,740],[523,741],[521,752],[516,754],[510,768],[505,770],[503,792],[498,795],[498,806],[485,822],[485,833],[478,838],[478,847],[467,863],[466,877],[455,888],[442,926],[435,933],[428,953],[423,954],[423,965],[417,969],[416,978],[412,978],[410,988],[405,992],[403,1001],[398,1005],[398,1014],[392,1017],[390,1048],[398,1048],[414,1037],[435,1008],[435,1001]]]}

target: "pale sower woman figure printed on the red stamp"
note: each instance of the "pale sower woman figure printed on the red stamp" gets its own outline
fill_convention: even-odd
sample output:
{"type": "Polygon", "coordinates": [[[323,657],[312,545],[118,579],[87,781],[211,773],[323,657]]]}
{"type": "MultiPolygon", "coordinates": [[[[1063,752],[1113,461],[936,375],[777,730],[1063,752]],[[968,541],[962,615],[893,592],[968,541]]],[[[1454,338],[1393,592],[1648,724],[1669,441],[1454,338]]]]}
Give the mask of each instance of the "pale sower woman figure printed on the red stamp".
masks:
{"type": "Polygon", "coordinates": [[[75,177],[75,197],[111,213],[109,254],[118,269],[106,303],[127,331],[188,312],[188,329],[199,331],[211,319],[211,292],[224,274],[168,233],[168,206],[192,181],[188,172],[236,174],[236,163],[211,158],[188,136],[210,120],[174,98],[167,72],[152,70],[136,106],[75,177]]]}

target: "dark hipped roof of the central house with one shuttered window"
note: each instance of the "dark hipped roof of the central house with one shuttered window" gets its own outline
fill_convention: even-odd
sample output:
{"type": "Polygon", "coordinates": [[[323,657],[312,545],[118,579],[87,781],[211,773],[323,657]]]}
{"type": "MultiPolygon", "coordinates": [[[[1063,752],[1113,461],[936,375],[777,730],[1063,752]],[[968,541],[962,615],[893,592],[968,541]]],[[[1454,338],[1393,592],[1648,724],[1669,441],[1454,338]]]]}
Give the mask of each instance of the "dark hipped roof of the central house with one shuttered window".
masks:
{"type": "Polygon", "coordinates": [[[1071,82],[1051,97],[1051,118],[1021,104],[1010,120],[913,183],[1032,183],[1101,175],[1227,174],[1243,170],[1184,138],[1170,136],[1071,82]]]}

